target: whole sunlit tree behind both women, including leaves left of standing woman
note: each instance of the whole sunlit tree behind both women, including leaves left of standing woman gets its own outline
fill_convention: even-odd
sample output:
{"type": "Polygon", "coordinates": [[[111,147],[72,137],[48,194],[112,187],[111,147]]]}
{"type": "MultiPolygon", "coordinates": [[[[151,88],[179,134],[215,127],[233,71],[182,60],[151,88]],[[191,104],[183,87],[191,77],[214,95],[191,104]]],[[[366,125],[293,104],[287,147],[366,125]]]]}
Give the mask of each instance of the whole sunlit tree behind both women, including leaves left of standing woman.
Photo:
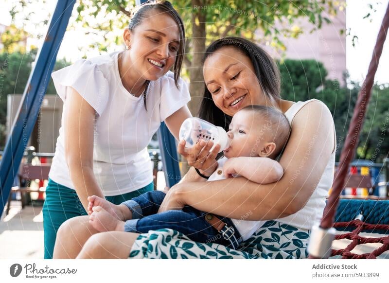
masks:
{"type": "MultiPolygon", "coordinates": [[[[14,17],[23,13],[30,1],[18,2],[12,11],[14,17]]],[[[184,60],[186,70],[183,73],[191,81],[190,92],[193,99],[189,106],[192,113],[197,112],[199,98],[203,94],[201,60],[206,45],[212,40],[238,35],[267,42],[272,47],[283,50],[285,47],[281,38],[297,37],[303,32],[298,19],[308,18],[315,29],[320,28],[323,21],[330,22],[323,16],[323,11],[334,15],[337,9],[344,8],[345,5],[344,1],[332,0],[172,0],[172,3],[184,20],[188,38],[184,60]],[[276,28],[280,22],[287,23],[286,27],[279,25],[276,28]],[[260,37],[256,36],[257,31],[260,37]]],[[[128,24],[134,6],[134,0],[77,1],[77,13],[71,19],[69,29],[83,28],[86,35],[98,35],[101,40],[93,41],[88,48],[106,51],[112,44],[122,44],[121,30],[128,24]]]]}

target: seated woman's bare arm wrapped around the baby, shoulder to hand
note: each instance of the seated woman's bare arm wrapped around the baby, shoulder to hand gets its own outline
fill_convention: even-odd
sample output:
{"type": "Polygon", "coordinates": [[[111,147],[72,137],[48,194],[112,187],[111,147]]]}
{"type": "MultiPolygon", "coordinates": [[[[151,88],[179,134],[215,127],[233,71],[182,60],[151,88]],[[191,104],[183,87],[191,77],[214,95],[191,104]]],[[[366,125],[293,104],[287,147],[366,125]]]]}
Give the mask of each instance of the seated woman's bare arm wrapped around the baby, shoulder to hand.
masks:
{"type": "Polygon", "coordinates": [[[280,160],[283,177],[259,185],[244,177],[213,182],[177,184],[160,211],[190,205],[198,210],[247,220],[285,217],[301,210],[315,190],[335,146],[333,119],[326,106],[311,102],[302,107],[280,160]]]}

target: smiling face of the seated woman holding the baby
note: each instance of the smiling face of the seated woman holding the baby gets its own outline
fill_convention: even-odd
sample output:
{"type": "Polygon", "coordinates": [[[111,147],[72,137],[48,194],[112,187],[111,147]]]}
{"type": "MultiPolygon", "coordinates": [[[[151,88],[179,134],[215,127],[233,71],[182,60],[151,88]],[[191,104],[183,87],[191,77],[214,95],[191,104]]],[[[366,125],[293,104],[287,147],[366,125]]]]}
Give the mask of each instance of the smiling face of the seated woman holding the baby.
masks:
{"type": "Polygon", "coordinates": [[[266,105],[266,97],[248,56],[223,47],[204,62],[204,81],[215,105],[233,116],[248,105],[266,105]]]}

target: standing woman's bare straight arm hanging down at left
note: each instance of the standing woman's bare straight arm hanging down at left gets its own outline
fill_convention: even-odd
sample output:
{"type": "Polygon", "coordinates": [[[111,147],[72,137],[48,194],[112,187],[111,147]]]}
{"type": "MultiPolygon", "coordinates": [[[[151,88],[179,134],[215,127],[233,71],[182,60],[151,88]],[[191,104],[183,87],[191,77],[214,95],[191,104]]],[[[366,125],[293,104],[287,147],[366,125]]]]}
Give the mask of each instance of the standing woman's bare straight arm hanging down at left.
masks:
{"type": "Polygon", "coordinates": [[[88,211],[88,195],[104,197],[93,174],[93,127],[95,110],[69,88],[64,105],[65,157],[77,195],[88,211]]]}

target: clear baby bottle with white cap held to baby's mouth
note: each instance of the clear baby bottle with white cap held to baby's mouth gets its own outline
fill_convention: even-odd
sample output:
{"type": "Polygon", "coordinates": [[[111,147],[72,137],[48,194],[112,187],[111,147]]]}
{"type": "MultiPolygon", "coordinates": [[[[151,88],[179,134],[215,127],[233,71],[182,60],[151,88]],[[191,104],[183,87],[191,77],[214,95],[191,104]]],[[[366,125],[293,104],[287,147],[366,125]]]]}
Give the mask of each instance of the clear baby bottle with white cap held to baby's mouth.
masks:
{"type": "Polygon", "coordinates": [[[216,144],[220,144],[219,152],[229,147],[230,143],[227,132],[222,127],[215,126],[195,117],[187,118],[184,123],[182,123],[181,128],[179,129],[179,139],[185,140],[186,148],[192,148],[201,140],[212,141],[214,144],[212,149],[216,144]]]}

